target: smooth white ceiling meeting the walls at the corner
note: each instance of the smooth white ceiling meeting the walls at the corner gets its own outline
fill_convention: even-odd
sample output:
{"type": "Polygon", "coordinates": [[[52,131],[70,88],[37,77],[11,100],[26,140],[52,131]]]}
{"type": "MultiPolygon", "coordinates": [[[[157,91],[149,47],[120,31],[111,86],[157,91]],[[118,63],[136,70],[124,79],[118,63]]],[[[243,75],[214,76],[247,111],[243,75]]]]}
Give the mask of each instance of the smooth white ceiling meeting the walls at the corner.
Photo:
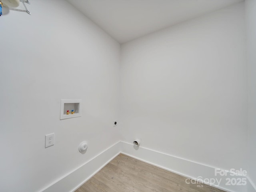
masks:
{"type": "Polygon", "coordinates": [[[120,43],[243,0],[68,0],[120,43]]]}

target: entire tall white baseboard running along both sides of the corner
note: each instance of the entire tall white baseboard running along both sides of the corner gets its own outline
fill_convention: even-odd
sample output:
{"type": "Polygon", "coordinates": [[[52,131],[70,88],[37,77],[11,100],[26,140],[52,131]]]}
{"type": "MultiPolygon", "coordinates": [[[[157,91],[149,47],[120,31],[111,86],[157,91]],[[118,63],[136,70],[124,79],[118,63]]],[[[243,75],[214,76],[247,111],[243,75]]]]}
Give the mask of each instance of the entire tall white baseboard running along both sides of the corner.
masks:
{"type": "MultiPolygon", "coordinates": [[[[80,168],[73,170],[69,174],[66,174],[66,176],[56,180],[50,186],[40,190],[40,192],[74,192],[120,153],[194,180],[197,180],[199,176],[201,176],[203,180],[213,178],[218,179],[219,181],[222,179],[219,186],[216,186],[215,184],[212,184],[212,186],[227,192],[256,192],[254,185],[249,178],[247,179],[247,186],[228,186],[226,185],[226,178],[230,176],[215,176],[214,167],[174,157],[144,147],[135,149],[132,144],[126,142],[118,142],[114,144],[98,156],[86,162],[80,168]]],[[[242,176],[237,177],[244,178],[242,176]]],[[[234,176],[230,178],[234,178],[234,176]]]]}

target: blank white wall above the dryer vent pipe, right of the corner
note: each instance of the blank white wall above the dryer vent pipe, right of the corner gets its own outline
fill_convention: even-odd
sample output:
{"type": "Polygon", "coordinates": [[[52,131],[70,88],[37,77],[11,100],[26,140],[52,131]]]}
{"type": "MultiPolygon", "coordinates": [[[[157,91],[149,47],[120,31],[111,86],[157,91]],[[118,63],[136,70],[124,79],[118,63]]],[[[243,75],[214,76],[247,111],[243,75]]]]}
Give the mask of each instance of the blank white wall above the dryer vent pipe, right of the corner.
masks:
{"type": "Polygon", "coordinates": [[[122,139],[246,169],[244,3],[121,46],[122,139]]]}

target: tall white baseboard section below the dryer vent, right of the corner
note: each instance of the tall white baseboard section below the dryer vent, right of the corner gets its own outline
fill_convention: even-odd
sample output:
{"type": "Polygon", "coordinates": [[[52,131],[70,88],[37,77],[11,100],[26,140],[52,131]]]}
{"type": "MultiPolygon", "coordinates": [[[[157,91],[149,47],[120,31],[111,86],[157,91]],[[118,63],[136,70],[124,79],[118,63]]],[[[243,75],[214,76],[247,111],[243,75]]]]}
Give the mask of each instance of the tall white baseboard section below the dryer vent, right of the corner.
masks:
{"type": "MultiPolygon", "coordinates": [[[[126,142],[120,142],[120,148],[122,154],[131,156],[138,160],[144,161],[154,166],[158,166],[165,170],[185,176],[187,178],[192,178],[194,180],[197,180],[198,177],[202,177],[203,180],[213,178],[218,179],[218,181],[220,181],[221,179],[219,186],[216,186],[215,184],[212,184],[212,186],[222,189],[224,191],[247,192],[246,186],[226,185],[226,178],[234,178],[234,176],[229,176],[229,173],[227,174],[227,176],[215,176],[214,167],[174,157],[169,154],[164,154],[162,152],[157,152],[144,147],[139,147],[138,149],[135,149],[132,144],[126,142]]],[[[238,178],[245,177],[238,176],[238,178]]]]}

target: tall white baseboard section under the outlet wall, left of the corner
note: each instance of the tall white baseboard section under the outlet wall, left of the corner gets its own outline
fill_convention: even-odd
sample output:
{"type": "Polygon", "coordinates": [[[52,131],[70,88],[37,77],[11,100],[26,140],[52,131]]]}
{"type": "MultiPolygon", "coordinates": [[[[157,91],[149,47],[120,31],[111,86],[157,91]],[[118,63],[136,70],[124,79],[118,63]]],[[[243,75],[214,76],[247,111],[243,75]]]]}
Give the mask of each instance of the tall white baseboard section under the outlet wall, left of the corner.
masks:
{"type": "Polygon", "coordinates": [[[65,177],[58,179],[41,192],[74,192],[118,154],[120,154],[120,142],[112,145],[65,177]]]}

